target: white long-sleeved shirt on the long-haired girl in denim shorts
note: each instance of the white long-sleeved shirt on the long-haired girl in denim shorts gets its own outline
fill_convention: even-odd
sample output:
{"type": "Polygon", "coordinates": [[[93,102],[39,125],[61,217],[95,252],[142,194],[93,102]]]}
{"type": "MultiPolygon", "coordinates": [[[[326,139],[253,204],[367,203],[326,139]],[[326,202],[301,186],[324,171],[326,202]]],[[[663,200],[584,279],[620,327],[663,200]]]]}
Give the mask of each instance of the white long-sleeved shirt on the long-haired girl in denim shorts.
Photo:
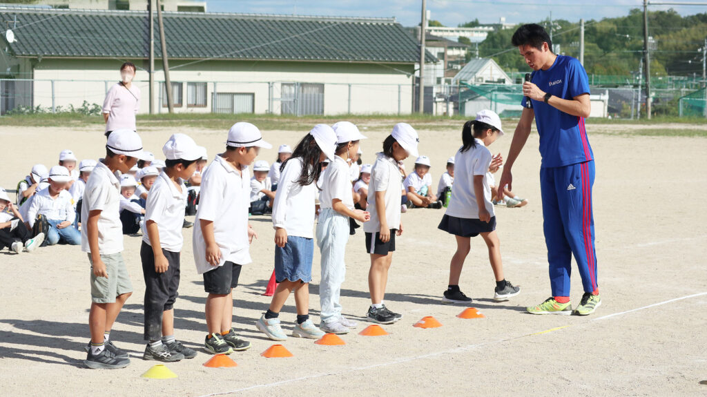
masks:
{"type": "Polygon", "coordinates": [[[282,227],[289,236],[312,239],[317,186],[314,182],[307,186],[297,182],[302,168],[302,158],[293,158],[285,163],[272,204],[272,225],[282,227]]]}

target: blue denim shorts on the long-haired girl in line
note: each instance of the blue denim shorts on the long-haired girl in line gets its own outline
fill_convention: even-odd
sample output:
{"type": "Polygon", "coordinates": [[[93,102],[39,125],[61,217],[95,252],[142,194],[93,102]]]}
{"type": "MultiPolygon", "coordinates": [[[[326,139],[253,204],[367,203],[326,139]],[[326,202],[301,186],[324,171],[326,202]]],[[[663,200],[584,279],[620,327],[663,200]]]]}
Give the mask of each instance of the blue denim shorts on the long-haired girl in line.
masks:
{"type": "Polygon", "coordinates": [[[312,280],[314,239],[288,236],[285,247],[275,246],[275,280],[309,283],[312,280]]]}

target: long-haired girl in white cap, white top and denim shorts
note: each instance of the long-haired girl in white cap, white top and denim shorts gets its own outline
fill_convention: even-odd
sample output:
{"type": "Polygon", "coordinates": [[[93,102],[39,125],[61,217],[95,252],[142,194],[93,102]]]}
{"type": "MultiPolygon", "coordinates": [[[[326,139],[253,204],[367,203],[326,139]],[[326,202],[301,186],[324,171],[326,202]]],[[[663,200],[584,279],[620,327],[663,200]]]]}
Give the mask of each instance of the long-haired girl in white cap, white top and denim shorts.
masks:
{"type": "Polygon", "coordinates": [[[286,160],[272,208],[275,228],[275,278],[279,283],[257,327],[272,340],[286,340],[280,326],[280,310],[295,291],[297,324],[292,336],[320,338],[324,332],[309,318],[309,283],[314,258],[315,197],[320,162],[334,158],[337,134],[326,124],[317,124],[286,160]]]}

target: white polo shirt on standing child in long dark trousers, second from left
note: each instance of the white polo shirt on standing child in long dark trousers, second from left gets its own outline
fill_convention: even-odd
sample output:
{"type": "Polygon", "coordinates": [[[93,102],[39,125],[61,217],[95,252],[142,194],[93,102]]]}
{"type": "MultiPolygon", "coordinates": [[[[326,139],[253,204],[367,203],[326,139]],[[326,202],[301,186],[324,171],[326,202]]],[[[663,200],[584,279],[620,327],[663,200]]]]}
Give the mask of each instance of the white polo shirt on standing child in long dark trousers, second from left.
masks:
{"type": "Polygon", "coordinates": [[[147,233],[147,221],[152,220],[157,224],[160,247],[170,252],[182,251],[184,245],[182,224],[187,207],[187,186],[180,180],[180,187],[182,191],[177,189],[165,172],[160,172],[160,176],[152,185],[147,195],[145,221],[142,224],[142,241],[149,246],[152,244],[147,233]]]}

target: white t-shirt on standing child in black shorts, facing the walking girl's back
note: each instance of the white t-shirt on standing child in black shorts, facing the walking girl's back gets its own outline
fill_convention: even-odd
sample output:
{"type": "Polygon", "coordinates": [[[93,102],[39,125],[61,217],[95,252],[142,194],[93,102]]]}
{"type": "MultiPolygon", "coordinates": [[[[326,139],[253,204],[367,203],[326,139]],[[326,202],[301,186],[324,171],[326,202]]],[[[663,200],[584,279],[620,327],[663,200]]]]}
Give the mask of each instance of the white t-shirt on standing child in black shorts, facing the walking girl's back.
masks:
{"type": "Polygon", "coordinates": [[[363,223],[363,231],[368,233],[380,232],[380,216],[385,216],[389,229],[400,227],[400,191],[402,191],[402,179],[397,162],[382,153],[376,153],[378,158],[373,163],[370,170],[370,182],[368,183],[368,206],[370,220],[363,223]],[[375,208],[375,192],[385,191],[385,214],[378,214],[375,208]]]}

